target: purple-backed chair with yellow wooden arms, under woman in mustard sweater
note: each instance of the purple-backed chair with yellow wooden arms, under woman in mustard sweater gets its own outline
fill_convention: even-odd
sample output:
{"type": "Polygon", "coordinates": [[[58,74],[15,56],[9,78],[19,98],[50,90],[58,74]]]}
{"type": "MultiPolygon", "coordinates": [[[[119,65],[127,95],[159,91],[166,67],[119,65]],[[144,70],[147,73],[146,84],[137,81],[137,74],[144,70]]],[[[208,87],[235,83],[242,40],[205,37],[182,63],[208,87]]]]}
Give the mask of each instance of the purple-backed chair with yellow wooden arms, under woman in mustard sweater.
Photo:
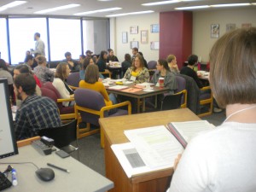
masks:
{"type": "Polygon", "coordinates": [[[101,146],[104,147],[103,131],[99,125],[99,118],[114,117],[131,114],[131,102],[120,102],[112,106],[106,106],[101,93],[95,90],[79,88],[74,92],[75,99],[75,116],[78,119],[77,135],[78,138],[87,137],[96,132],[101,132],[101,146]],[[127,107],[128,110],[121,108],[127,107]],[[117,108],[116,113],[108,114],[110,109],[117,108]],[[81,122],[86,123],[86,128],[80,129],[81,122]],[[90,125],[99,127],[91,129],[90,125]]]}

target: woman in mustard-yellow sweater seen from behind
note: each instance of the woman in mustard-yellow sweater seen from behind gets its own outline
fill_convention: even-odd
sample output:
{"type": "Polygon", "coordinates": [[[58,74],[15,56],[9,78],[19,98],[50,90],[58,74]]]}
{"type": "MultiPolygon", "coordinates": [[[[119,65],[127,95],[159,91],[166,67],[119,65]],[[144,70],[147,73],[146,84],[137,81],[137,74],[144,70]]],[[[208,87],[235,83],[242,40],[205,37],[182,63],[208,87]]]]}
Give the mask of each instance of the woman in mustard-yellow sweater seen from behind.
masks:
{"type": "MultiPolygon", "coordinates": [[[[89,65],[86,70],[85,70],[85,79],[81,80],[79,82],[79,87],[80,88],[86,88],[90,90],[96,90],[97,92],[101,93],[102,96],[104,97],[104,102],[106,106],[110,106],[113,104],[116,104],[116,98],[113,96],[113,94],[110,94],[108,96],[107,90],[102,84],[102,82],[98,81],[99,79],[99,68],[96,65],[89,65]]],[[[115,110],[110,110],[114,113],[115,110]]]]}

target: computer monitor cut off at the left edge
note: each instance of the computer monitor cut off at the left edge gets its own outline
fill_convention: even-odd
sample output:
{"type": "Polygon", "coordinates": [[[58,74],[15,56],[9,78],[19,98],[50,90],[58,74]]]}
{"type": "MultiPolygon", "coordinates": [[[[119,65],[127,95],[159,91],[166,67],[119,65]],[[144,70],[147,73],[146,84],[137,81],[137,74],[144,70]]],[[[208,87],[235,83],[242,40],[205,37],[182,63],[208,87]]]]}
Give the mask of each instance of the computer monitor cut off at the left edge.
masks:
{"type": "Polygon", "coordinates": [[[7,79],[0,79],[0,159],[18,154],[7,79]]]}

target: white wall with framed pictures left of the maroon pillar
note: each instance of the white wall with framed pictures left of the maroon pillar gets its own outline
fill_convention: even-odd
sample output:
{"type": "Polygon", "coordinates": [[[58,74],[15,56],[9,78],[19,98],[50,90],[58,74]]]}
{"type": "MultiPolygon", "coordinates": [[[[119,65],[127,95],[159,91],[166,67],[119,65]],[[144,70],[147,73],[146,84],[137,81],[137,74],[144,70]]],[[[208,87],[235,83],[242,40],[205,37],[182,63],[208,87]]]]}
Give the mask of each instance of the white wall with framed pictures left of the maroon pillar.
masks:
{"type": "Polygon", "coordinates": [[[110,34],[115,34],[110,36],[110,45],[119,61],[125,60],[126,53],[131,54],[131,41],[139,42],[139,51],[143,52],[147,61],[157,61],[159,59],[159,50],[150,49],[150,42],[159,41],[159,33],[150,32],[150,25],[152,24],[159,24],[158,13],[110,19],[110,34]],[[138,26],[138,33],[130,34],[130,26],[138,26]],[[141,30],[148,30],[148,44],[141,44],[141,30]],[[122,32],[128,32],[127,44],[122,43],[122,32]]]}

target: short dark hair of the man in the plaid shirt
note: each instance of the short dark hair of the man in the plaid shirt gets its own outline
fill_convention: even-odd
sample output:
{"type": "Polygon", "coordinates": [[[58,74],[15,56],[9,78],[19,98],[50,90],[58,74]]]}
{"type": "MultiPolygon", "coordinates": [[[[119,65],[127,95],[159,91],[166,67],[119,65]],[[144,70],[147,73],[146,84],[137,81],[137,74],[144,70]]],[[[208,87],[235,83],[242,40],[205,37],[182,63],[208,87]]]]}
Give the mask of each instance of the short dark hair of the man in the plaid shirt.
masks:
{"type": "Polygon", "coordinates": [[[21,87],[27,96],[32,96],[36,92],[37,84],[32,74],[22,73],[15,78],[15,86],[17,89],[21,87]]]}

